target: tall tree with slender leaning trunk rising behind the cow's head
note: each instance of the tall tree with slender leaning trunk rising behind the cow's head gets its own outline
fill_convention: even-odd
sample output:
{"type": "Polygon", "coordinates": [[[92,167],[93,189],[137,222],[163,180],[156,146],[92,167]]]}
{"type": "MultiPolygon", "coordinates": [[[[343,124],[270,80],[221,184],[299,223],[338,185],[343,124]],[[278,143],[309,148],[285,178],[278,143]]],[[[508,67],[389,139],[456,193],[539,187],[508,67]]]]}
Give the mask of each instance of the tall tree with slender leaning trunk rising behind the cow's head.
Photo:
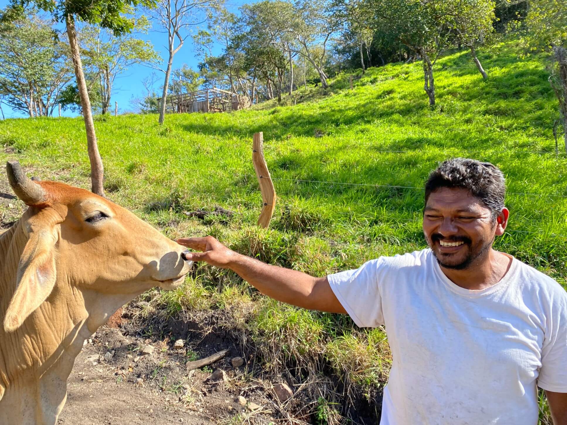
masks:
{"type": "Polygon", "coordinates": [[[126,7],[134,7],[139,4],[149,7],[153,5],[153,0],[88,0],[87,2],[84,0],[11,0],[10,11],[3,14],[3,18],[12,20],[14,16],[21,16],[25,7],[32,2],[41,10],[50,12],[56,22],[65,22],[87,133],[88,159],[91,164],[91,189],[92,192],[104,196],[104,168],[96,141],[95,125],[92,120],[91,103],[83,74],[81,48],[77,40],[75,20],[78,19],[85,23],[108,28],[115,36],[119,36],[130,32],[134,26],[133,20],[123,15],[126,7]]]}

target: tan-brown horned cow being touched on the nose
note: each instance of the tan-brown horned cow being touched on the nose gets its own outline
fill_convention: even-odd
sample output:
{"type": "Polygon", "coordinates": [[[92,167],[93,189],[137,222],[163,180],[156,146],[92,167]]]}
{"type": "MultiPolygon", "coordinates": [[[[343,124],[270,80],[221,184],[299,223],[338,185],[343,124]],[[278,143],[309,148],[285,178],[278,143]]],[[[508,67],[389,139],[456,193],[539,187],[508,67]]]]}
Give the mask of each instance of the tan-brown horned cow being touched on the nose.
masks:
{"type": "Polygon", "coordinates": [[[0,424],[52,425],[84,339],[151,287],[180,286],[192,262],[108,199],[6,168],[29,208],[0,235],[0,424]]]}

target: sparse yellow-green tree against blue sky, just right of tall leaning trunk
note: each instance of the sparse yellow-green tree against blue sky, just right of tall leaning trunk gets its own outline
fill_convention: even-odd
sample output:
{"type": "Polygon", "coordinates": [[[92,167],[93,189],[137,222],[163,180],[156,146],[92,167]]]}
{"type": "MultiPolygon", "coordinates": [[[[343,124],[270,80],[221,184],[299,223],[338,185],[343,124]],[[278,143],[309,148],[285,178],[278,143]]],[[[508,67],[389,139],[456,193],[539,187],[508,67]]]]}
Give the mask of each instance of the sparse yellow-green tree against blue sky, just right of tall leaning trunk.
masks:
{"type": "MultiPolygon", "coordinates": [[[[137,32],[147,33],[150,24],[145,16],[133,18],[137,32]]],[[[101,113],[108,112],[116,77],[135,63],[156,63],[159,54],[149,41],[136,39],[131,33],[114,36],[108,28],[87,24],[81,31],[85,66],[99,79],[101,113]]]]}

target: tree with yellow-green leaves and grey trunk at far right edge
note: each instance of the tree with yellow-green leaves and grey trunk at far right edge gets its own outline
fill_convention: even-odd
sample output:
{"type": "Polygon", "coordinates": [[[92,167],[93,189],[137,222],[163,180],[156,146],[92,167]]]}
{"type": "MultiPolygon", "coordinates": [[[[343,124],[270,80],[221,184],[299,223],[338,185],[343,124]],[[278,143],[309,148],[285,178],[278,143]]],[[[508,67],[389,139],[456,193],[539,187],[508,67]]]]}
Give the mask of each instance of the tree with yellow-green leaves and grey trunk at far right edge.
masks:
{"type": "Polygon", "coordinates": [[[567,7],[559,0],[531,0],[527,25],[528,45],[551,53],[549,83],[559,103],[567,152],[567,7]]]}

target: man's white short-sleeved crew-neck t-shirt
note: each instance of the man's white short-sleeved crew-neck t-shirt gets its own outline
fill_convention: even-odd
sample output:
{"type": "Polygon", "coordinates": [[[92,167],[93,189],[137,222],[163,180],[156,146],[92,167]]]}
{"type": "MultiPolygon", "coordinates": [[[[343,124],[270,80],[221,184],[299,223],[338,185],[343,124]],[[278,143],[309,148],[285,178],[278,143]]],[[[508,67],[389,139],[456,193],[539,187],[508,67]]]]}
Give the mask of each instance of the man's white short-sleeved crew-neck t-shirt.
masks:
{"type": "Polygon", "coordinates": [[[381,425],[535,425],[536,385],[567,393],[567,292],[515,258],[480,291],[452,283],[430,249],[328,279],[358,326],[386,326],[381,425]]]}

